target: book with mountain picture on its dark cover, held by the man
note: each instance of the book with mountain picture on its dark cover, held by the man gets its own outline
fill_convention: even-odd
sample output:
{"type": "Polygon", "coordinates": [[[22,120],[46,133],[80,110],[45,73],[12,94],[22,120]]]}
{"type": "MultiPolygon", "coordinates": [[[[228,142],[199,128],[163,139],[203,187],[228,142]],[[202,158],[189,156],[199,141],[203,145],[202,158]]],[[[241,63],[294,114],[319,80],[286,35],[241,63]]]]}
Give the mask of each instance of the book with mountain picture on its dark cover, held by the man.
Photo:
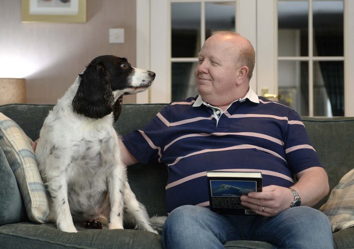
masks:
{"type": "Polygon", "coordinates": [[[207,171],[210,210],[219,214],[255,215],[241,205],[241,195],[262,191],[261,172],[207,171]]]}

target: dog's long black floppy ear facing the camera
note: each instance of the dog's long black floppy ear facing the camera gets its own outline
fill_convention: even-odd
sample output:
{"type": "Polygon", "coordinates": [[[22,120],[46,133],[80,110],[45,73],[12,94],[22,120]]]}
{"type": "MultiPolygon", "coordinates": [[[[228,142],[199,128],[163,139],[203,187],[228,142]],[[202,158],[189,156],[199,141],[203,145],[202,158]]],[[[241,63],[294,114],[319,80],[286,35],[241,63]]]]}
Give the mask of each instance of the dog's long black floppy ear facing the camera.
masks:
{"type": "Polygon", "coordinates": [[[99,119],[113,111],[114,95],[109,73],[101,63],[89,64],[79,75],[81,80],[72,100],[73,111],[99,119]]]}

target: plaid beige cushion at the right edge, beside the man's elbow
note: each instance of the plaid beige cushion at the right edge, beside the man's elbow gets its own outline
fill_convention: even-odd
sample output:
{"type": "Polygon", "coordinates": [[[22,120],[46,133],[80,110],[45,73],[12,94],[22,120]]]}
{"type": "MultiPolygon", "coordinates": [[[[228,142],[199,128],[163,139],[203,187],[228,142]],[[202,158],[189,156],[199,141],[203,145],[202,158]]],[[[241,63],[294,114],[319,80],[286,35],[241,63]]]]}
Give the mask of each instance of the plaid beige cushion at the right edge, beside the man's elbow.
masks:
{"type": "Polygon", "coordinates": [[[354,169],[332,189],[320,210],[329,217],[333,232],[354,227],[354,169]]]}

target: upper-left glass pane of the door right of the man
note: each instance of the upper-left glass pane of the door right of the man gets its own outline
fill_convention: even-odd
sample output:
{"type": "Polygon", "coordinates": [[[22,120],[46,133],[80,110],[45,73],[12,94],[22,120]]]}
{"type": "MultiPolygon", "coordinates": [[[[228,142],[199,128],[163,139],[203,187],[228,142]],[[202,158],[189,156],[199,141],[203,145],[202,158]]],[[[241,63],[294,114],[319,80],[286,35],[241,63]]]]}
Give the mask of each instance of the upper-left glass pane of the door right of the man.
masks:
{"type": "Polygon", "coordinates": [[[308,1],[278,2],[278,55],[308,55],[308,1]]]}

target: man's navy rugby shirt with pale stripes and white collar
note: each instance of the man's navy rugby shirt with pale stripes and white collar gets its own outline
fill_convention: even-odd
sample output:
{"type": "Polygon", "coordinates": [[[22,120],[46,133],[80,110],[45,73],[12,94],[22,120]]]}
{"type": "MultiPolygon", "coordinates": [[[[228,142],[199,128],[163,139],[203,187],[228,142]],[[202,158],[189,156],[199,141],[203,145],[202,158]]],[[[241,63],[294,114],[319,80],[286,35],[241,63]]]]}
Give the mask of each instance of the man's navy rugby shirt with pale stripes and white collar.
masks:
{"type": "Polygon", "coordinates": [[[167,166],[167,212],[209,206],[207,170],[260,171],[263,186],[289,187],[293,174],[321,166],[294,110],[251,89],[247,95],[221,115],[201,97],[170,103],[123,138],[139,162],[167,166]]]}

